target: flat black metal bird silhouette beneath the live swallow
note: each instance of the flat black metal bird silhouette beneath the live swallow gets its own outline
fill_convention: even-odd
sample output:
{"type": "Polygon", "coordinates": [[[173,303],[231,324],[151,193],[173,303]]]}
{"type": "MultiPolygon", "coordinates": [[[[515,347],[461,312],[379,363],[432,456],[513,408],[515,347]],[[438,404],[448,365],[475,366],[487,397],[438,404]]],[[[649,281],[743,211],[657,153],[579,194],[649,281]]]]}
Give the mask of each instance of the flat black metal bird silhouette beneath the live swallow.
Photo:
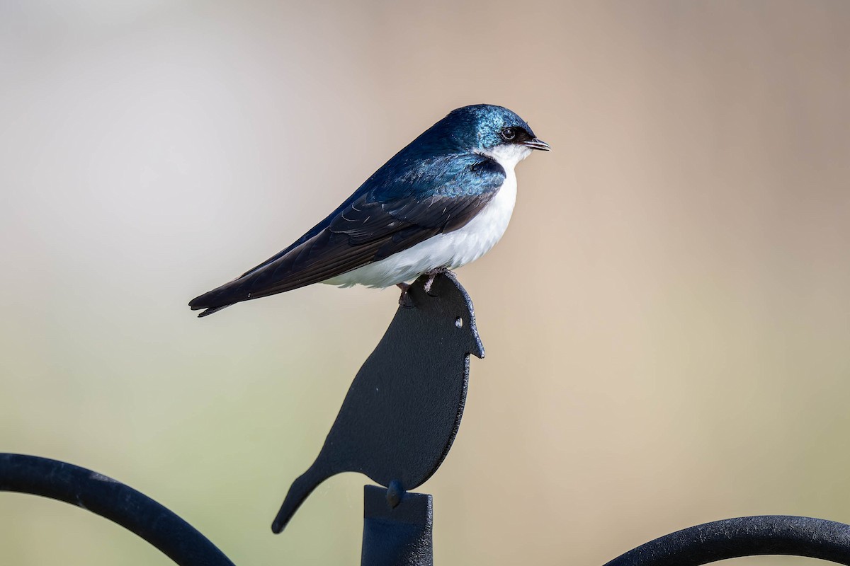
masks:
{"type": "Polygon", "coordinates": [[[286,493],[272,531],[280,533],[309,494],[342,472],[359,472],[399,496],[439,468],[461,424],[469,356],[484,357],[472,300],[453,274],[419,277],[411,308],[399,306],[387,332],[345,395],[319,456],[286,493]]]}

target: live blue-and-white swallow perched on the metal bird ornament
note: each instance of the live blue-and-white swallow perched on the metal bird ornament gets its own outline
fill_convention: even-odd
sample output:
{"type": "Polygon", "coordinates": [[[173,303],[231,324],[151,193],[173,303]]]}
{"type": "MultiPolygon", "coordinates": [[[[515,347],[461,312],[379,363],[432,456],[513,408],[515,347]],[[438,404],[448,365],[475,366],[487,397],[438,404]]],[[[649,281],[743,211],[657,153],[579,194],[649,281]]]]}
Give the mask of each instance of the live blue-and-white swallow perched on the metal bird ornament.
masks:
{"type": "Polygon", "coordinates": [[[235,303],[313,283],[402,289],[487,253],[511,219],[514,167],[548,151],[513,111],[452,110],[375,171],[342,205],[256,267],[191,300],[207,317],[235,303]]]}

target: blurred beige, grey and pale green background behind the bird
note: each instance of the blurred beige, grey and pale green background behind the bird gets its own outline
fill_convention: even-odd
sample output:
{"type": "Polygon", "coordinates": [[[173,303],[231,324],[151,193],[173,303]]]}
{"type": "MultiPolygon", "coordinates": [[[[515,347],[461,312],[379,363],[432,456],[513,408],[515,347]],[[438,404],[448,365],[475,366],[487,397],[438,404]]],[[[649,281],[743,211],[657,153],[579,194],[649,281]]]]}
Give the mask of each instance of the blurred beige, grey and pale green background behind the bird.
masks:
{"type": "MultiPolygon", "coordinates": [[[[0,4],[0,451],[120,479],[236,564],[359,563],[362,476],[269,524],[396,289],[186,303],[486,102],[553,151],[458,273],[487,357],[420,488],[436,561],[850,522],[848,25],[840,0],[0,4]]],[[[0,562],[58,561],[171,563],[3,494],[0,562]]]]}

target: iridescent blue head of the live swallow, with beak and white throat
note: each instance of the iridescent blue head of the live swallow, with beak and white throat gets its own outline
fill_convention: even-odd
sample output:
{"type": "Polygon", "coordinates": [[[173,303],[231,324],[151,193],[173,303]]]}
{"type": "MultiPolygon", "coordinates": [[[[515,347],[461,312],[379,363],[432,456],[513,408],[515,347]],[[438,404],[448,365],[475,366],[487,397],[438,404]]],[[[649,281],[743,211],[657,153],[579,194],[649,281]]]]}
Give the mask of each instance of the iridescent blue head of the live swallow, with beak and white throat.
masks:
{"type": "Polygon", "coordinates": [[[452,110],[437,122],[441,133],[459,149],[484,154],[502,166],[516,165],[531,150],[549,150],[549,144],[537,139],[531,127],[514,112],[493,104],[474,104],[452,110]]]}

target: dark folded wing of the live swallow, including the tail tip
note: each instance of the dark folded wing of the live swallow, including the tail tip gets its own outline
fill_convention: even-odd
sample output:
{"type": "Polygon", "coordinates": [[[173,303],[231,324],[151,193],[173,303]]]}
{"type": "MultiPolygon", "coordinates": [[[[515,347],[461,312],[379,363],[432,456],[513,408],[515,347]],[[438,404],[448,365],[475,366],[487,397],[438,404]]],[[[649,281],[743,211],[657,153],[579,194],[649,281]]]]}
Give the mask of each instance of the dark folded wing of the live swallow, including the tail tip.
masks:
{"type": "Polygon", "coordinates": [[[295,244],[190,307],[207,309],[199,315],[205,317],[242,300],[325,281],[465,226],[496,194],[505,172],[477,155],[450,165],[430,174],[405,171],[370,190],[360,188],[295,244]]]}

